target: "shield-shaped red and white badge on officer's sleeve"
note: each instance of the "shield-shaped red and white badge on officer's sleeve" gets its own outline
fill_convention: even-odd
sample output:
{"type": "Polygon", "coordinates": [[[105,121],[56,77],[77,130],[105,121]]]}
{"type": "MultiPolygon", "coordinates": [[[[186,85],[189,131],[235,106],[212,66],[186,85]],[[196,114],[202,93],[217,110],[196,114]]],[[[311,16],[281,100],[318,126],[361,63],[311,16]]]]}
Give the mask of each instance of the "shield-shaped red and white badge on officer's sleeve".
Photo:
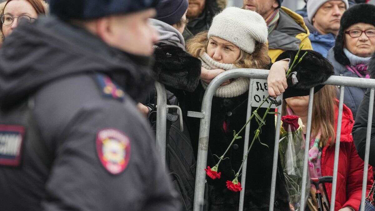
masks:
{"type": "Polygon", "coordinates": [[[116,129],[100,130],[96,138],[96,151],[105,169],[111,174],[119,174],[129,163],[129,138],[116,129]]]}

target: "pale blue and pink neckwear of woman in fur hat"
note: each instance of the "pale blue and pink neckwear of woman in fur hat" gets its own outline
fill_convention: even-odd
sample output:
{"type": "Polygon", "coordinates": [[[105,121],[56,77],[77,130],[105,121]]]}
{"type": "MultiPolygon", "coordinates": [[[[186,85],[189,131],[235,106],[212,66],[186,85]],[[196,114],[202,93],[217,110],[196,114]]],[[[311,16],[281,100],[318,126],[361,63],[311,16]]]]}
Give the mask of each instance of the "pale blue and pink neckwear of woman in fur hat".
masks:
{"type": "Polygon", "coordinates": [[[358,75],[360,78],[370,78],[370,72],[367,70],[367,68],[371,57],[356,56],[350,53],[350,51],[348,51],[346,48],[344,48],[344,53],[350,61],[350,65],[345,66],[349,71],[358,75]]]}

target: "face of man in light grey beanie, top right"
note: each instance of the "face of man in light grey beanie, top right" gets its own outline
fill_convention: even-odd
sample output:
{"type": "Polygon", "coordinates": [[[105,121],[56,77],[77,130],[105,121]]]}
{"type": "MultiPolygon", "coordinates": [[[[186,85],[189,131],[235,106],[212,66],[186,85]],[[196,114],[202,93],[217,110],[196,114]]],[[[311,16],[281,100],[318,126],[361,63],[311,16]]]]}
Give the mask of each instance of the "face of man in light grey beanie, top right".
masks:
{"type": "Polygon", "coordinates": [[[341,0],[332,0],[323,4],[312,18],[312,23],[321,33],[337,35],[342,14],[346,10],[341,0]]]}

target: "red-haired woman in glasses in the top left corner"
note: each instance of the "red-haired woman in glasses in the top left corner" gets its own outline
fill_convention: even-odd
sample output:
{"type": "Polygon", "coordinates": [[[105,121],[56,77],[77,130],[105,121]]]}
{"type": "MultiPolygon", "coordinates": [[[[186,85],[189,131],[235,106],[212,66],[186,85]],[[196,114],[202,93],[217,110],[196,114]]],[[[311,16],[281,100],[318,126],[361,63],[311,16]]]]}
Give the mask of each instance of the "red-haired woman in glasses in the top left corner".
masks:
{"type": "Polygon", "coordinates": [[[43,0],[7,0],[1,11],[0,30],[6,38],[20,23],[31,23],[45,15],[47,4],[43,0]]]}

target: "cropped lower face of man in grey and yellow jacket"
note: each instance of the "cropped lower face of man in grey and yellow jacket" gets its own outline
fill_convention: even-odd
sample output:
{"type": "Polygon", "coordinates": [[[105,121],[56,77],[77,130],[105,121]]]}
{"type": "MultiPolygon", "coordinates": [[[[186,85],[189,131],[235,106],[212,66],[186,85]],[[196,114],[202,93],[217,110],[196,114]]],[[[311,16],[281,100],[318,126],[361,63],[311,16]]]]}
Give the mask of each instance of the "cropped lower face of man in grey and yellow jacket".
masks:
{"type": "Polygon", "coordinates": [[[258,12],[263,18],[267,18],[277,7],[276,0],[243,0],[243,9],[258,12]]]}

